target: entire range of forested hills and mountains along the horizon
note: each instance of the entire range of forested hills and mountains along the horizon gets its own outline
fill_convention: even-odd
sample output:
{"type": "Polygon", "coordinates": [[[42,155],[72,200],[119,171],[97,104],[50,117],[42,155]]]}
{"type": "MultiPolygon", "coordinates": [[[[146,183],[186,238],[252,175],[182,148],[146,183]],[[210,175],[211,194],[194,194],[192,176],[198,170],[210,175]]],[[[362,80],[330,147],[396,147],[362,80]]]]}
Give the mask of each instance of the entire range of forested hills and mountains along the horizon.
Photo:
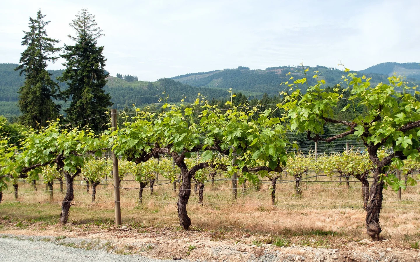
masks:
{"type": "MultiPolygon", "coordinates": [[[[19,109],[16,105],[18,100],[19,87],[24,83],[24,76],[19,76],[13,70],[17,64],[0,64],[0,115],[6,117],[16,117],[19,109]]],[[[306,69],[305,67],[304,69],[306,69]]],[[[201,73],[189,73],[172,78],[162,78],[155,82],[131,81],[128,82],[121,78],[109,76],[108,83],[105,85],[105,92],[110,93],[114,107],[123,109],[126,106],[136,104],[157,103],[159,97],[166,98],[168,102],[177,103],[185,98],[186,102],[196,99],[197,93],[211,99],[226,99],[227,89],[232,88],[233,92],[241,92],[249,99],[260,99],[264,93],[270,96],[278,95],[285,90],[285,86],[280,86],[286,81],[292,82],[294,79],[304,77],[304,69],[294,66],[268,67],[265,70],[250,70],[249,67],[240,66],[235,69],[213,70],[201,73]],[[291,72],[290,75],[286,75],[291,72]]],[[[319,71],[320,79],[325,80],[327,86],[334,86],[340,83],[343,71],[336,68],[317,65],[310,67],[307,72],[307,81],[310,85],[316,83],[312,78],[313,72],[319,71]]],[[[386,82],[386,78],[396,71],[407,77],[420,81],[420,65],[418,63],[394,63],[387,62],[360,71],[361,75],[366,74],[372,77],[372,83],[386,82]]],[[[53,74],[52,78],[60,76],[63,70],[49,70],[53,74]]],[[[354,72],[354,71],[352,71],[354,72]]],[[[60,83],[60,88],[65,89],[66,85],[60,83]]],[[[305,89],[305,88],[302,88],[305,89]]],[[[67,107],[60,101],[63,108],[67,107]]]]}

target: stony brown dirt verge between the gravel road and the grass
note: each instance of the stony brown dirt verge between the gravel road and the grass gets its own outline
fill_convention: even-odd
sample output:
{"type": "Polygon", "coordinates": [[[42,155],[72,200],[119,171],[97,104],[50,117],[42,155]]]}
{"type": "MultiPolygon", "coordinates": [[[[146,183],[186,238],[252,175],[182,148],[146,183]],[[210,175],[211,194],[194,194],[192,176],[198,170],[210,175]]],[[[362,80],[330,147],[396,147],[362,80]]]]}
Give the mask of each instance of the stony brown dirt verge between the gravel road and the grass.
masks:
{"type": "MultiPolygon", "coordinates": [[[[0,220],[2,237],[55,242],[84,249],[106,249],[117,254],[142,254],[151,258],[191,261],[420,261],[419,249],[407,249],[392,240],[307,239],[297,246],[298,236],[285,246],[266,244],[269,235],[226,231],[183,231],[178,228],[115,228],[105,225],[18,224],[0,220]]],[[[302,241],[301,241],[302,242],[302,241]]],[[[278,244],[278,243],[277,243],[278,244]]]]}

